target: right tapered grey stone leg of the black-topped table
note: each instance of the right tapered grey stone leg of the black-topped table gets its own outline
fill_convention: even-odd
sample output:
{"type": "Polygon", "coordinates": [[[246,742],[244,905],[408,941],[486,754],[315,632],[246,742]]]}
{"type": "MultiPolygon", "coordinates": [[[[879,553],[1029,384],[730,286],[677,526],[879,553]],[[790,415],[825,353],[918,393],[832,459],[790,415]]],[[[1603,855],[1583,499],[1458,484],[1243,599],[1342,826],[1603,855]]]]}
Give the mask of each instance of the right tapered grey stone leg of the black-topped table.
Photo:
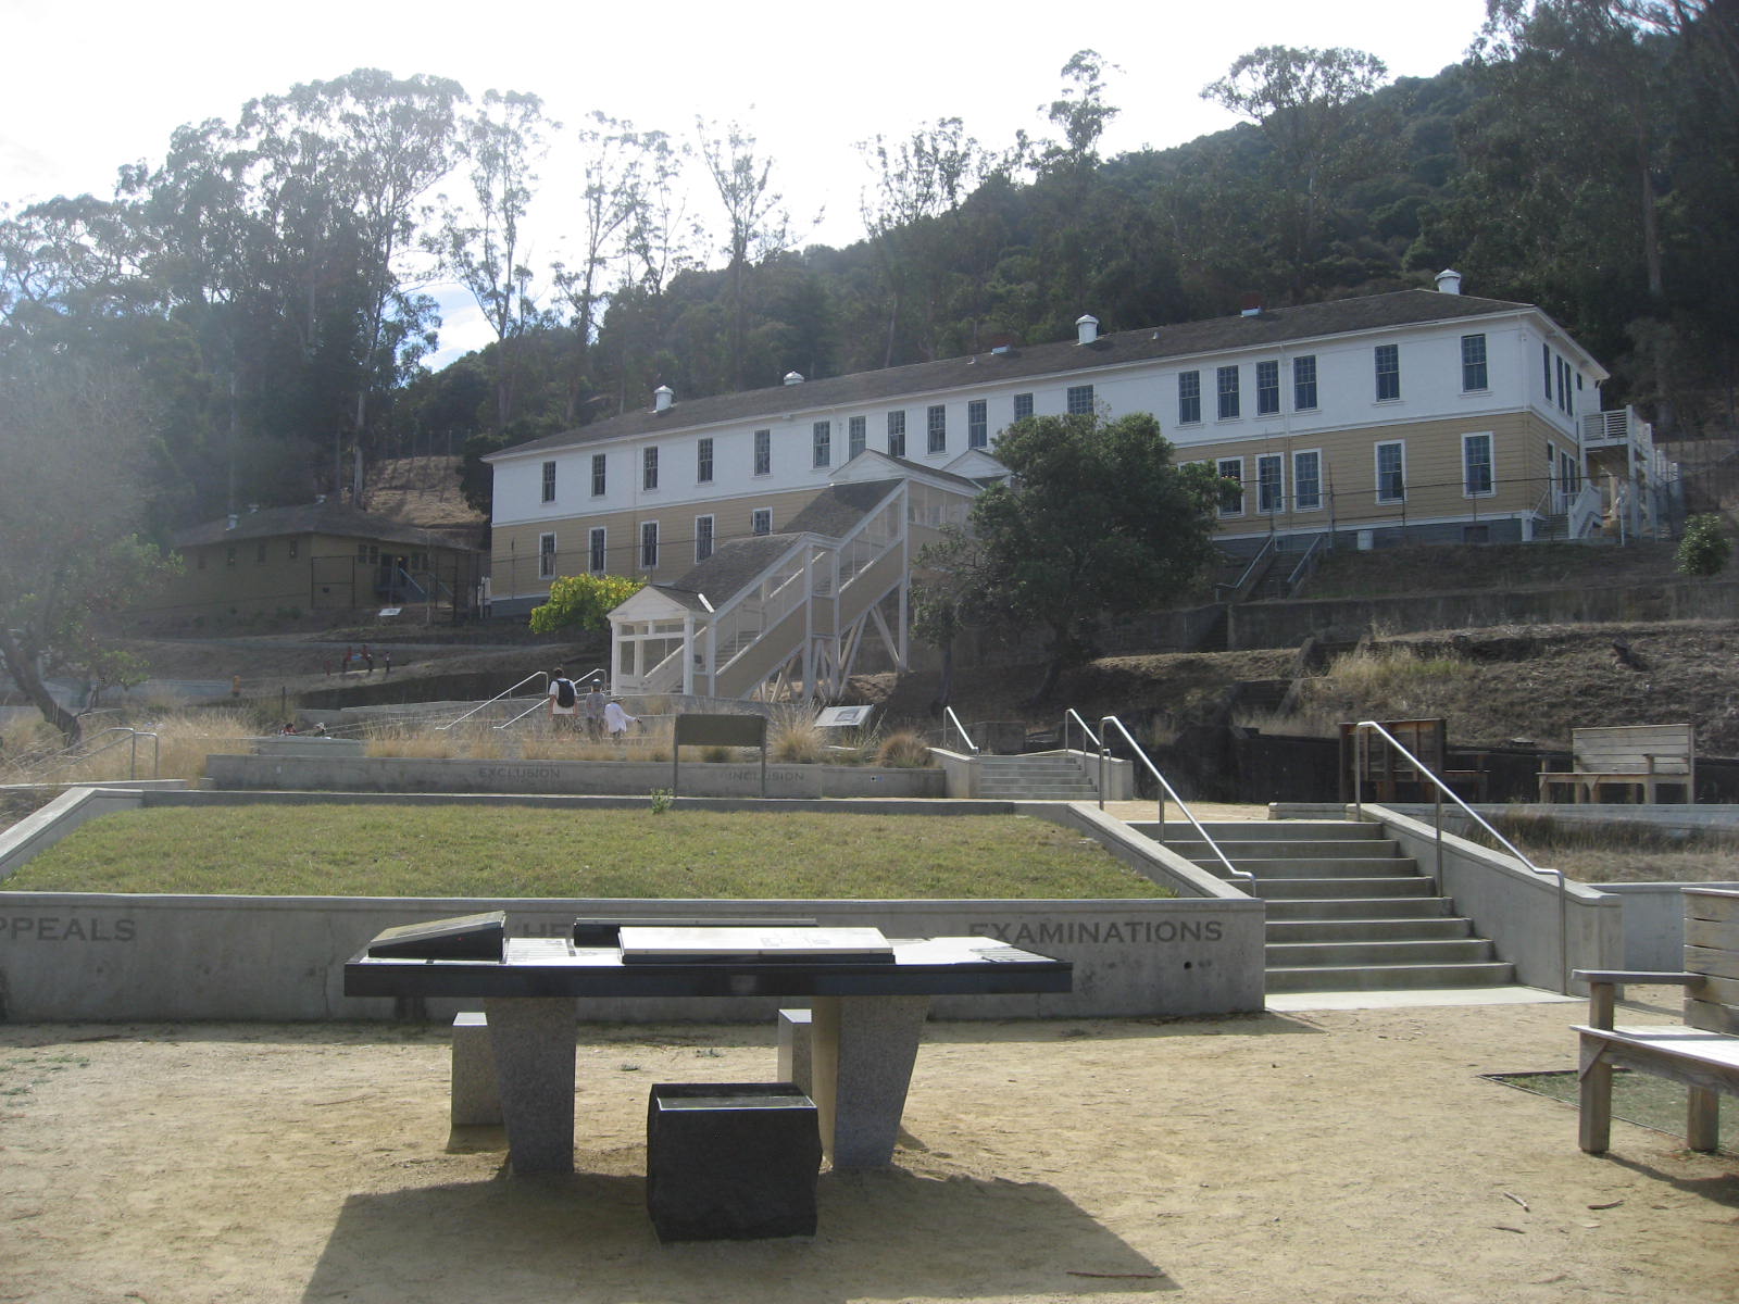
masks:
{"type": "Polygon", "coordinates": [[[821,1144],[835,1168],[894,1158],[929,996],[816,996],[810,1050],[821,1144]]]}

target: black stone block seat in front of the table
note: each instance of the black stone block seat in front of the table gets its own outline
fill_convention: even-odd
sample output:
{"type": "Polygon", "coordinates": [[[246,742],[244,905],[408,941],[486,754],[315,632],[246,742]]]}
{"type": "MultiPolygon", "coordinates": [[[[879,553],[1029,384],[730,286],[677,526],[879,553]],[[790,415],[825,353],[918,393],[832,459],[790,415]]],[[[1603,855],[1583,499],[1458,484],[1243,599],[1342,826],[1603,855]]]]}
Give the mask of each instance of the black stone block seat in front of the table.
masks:
{"type": "Polygon", "coordinates": [[[791,1083],[659,1083],[647,1214],[661,1241],[816,1234],[821,1128],[791,1083]]]}

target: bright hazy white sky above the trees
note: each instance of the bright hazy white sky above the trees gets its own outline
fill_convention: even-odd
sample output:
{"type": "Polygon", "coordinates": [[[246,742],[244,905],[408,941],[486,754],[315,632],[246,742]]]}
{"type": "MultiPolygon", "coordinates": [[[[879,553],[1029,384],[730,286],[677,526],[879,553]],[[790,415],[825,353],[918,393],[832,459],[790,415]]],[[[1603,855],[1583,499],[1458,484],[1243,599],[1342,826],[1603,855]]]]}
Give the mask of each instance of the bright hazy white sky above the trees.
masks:
{"type": "MultiPolygon", "coordinates": [[[[854,148],[958,116],[993,150],[1045,136],[1042,106],[1082,49],[1115,70],[1106,156],[1235,125],[1200,97],[1259,45],[1348,45],[1396,77],[1429,77],[1473,40],[1485,0],[882,0],[859,5],[527,3],[527,0],[0,0],[0,205],[110,196],[115,172],[162,158],[176,127],[233,122],[299,82],[384,68],[457,80],[473,96],[529,90],[565,123],[541,167],[532,263],[567,256],[577,198],[572,137],[593,110],[694,137],[696,116],[739,122],[774,160],[772,188],[802,243],[850,243],[870,172],[854,148]]],[[[696,193],[706,212],[710,196],[696,193]]],[[[715,257],[716,264],[716,257],[715,257]]],[[[443,351],[487,343],[463,292],[438,292],[443,351]]]]}

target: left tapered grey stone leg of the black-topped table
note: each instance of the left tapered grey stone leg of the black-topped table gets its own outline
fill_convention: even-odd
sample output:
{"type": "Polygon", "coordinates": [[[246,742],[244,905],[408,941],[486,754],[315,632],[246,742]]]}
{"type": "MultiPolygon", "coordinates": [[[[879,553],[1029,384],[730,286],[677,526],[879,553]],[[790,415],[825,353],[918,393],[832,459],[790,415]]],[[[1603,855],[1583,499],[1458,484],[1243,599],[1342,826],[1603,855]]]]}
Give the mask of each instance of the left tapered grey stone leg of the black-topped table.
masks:
{"type": "Polygon", "coordinates": [[[485,1000],[483,1014],[513,1172],[574,1172],[574,998],[485,1000]]]}

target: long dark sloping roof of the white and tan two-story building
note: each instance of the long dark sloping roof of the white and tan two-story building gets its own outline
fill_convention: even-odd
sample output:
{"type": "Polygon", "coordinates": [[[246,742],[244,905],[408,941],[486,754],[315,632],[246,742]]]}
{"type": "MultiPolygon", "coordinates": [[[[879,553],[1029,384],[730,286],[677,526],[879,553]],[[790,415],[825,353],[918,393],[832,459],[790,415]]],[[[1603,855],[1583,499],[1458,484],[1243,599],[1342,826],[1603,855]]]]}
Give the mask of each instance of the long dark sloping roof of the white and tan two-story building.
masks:
{"type": "Polygon", "coordinates": [[[1299,304],[1296,308],[1266,308],[1261,313],[1219,316],[1207,322],[1181,322],[1165,327],[1143,327],[1101,336],[1090,344],[1059,341],[1031,344],[993,353],[974,353],[963,358],[920,362],[909,367],[889,367],[852,376],[835,376],[802,384],[783,384],[767,389],[748,389],[732,395],[713,395],[675,402],[663,412],[640,409],[617,417],[593,422],[579,429],[548,435],[530,443],[503,449],[483,461],[570,449],[605,440],[659,435],[730,421],[777,421],[798,412],[857,407],[925,395],[972,384],[998,381],[1040,379],[1087,372],[1099,367],[1116,367],[1155,358],[1184,358],[1196,353],[1217,353],[1235,348],[1273,348],[1303,339],[1343,336],[1386,327],[1429,325],[1462,318],[1537,311],[1534,304],[1506,299],[1480,299],[1471,294],[1443,294],[1440,290],[1396,290],[1358,299],[1299,304]]]}

